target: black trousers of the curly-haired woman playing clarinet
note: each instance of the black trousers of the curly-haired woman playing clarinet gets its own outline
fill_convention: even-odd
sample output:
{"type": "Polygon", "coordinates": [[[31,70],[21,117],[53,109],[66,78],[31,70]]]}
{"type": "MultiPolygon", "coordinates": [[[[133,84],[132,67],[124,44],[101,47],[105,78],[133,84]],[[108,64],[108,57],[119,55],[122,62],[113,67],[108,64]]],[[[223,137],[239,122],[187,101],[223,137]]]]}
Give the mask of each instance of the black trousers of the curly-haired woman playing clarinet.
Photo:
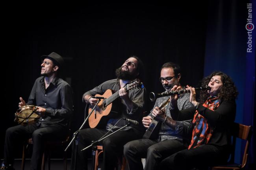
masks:
{"type": "Polygon", "coordinates": [[[191,170],[192,168],[207,170],[209,166],[226,163],[229,157],[226,146],[216,147],[205,144],[190,150],[182,150],[160,163],[161,170],[191,170]]]}

